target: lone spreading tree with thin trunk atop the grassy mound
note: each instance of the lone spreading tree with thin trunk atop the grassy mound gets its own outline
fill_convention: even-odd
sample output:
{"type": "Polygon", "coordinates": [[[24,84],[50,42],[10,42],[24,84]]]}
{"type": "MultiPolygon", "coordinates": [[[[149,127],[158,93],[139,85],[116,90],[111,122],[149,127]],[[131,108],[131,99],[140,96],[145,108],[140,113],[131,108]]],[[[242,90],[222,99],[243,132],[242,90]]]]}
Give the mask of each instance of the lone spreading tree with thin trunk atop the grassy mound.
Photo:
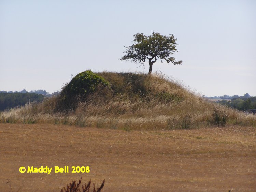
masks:
{"type": "Polygon", "coordinates": [[[125,47],[127,50],[120,60],[127,61],[130,59],[136,64],[145,66],[145,60],[148,59],[148,74],[151,74],[152,65],[158,58],[161,59],[161,62],[166,60],[167,63],[171,62],[174,65],[180,65],[182,61],[176,61],[174,57],[170,57],[177,51],[176,40],[173,34],[165,36],[161,35],[161,33],[152,32],[152,35],[146,36],[143,33],[137,33],[134,35],[132,46],[125,47]]]}

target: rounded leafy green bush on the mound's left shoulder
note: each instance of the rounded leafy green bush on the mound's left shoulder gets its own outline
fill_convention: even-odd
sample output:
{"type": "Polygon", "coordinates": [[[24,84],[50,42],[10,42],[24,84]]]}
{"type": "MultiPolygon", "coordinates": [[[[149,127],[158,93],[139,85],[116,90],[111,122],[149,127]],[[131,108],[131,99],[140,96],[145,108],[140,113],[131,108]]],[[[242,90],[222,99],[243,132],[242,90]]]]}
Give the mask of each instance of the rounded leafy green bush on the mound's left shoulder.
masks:
{"type": "Polygon", "coordinates": [[[77,74],[70,83],[64,87],[62,93],[67,97],[85,95],[94,92],[99,85],[105,87],[109,85],[109,82],[91,70],[87,70],[77,74]]]}

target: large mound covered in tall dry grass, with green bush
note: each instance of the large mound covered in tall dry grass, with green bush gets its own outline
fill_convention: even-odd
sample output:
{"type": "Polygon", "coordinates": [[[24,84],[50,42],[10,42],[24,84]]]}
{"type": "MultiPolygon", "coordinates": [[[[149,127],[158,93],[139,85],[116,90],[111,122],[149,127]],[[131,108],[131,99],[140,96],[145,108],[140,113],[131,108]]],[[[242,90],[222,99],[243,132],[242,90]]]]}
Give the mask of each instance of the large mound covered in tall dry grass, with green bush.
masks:
{"type": "Polygon", "coordinates": [[[159,73],[148,76],[91,71],[79,73],[58,97],[3,112],[0,117],[2,122],[70,124],[127,131],[256,124],[255,115],[209,102],[159,73]],[[91,81],[85,76],[99,80],[91,81]]]}

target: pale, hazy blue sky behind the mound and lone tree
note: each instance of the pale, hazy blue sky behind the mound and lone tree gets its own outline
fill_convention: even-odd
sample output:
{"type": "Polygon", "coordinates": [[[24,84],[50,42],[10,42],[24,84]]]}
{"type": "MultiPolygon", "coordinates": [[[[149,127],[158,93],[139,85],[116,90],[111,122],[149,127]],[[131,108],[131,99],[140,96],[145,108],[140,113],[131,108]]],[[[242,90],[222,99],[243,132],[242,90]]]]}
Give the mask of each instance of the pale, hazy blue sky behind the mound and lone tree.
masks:
{"type": "Polygon", "coordinates": [[[156,70],[198,93],[256,96],[256,1],[0,0],[0,90],[60,90],[86,69],[142,71],[120,61],[133,35],[178,38],[182,65],[156,70]]]}

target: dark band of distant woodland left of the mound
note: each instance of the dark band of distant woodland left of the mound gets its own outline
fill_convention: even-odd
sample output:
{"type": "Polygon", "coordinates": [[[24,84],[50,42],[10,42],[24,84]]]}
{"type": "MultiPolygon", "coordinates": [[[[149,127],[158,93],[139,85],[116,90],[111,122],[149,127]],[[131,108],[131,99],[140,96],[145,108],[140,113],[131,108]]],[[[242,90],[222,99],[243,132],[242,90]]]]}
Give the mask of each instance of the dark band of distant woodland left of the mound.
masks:
{"type": "Polygon", "coordinates": [[[44,95],[37,93],[3,93],[0,92],[0,110],[9,110],[17,106],[23,106],[27,102],[42,101],[44,95]]]}

